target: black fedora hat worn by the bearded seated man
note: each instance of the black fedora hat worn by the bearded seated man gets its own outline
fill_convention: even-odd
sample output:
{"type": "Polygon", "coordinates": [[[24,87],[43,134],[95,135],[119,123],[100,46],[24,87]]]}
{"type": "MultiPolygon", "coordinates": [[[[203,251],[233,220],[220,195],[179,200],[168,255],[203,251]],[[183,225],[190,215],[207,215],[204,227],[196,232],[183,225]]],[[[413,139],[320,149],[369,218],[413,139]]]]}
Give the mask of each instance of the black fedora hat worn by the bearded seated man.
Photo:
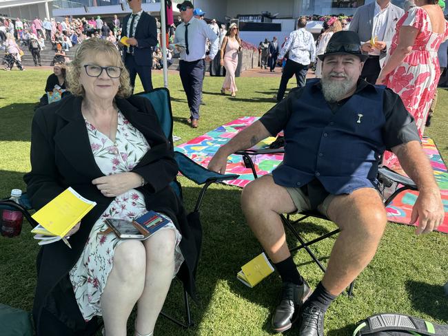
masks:
{"type": "Polygon", "coordinates": [[[340,54],[350,54],[358,56],[361,62],[364,62],[369,58],[368,55],[363,54],[361,51],[361,41],[356,32],[350,30],[341,30],[340,32],[335,32],[331,39],[329,39],[327,48],[325,52],[318,55],[320,61],[325,59],[328,55],[340,55],[340,54]]]}

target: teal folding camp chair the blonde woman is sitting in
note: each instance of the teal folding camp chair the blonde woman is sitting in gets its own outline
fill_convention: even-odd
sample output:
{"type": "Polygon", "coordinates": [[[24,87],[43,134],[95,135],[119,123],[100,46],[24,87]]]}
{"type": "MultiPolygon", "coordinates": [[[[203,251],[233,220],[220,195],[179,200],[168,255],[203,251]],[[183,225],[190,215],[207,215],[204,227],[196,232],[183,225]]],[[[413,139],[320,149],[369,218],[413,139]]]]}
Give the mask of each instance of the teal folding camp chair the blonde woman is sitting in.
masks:
{"type": "MultiPolygon", "coordinates": [[[[154,107],[154,110],[156,111],[157,116],[159,117],[159,122],[161,123],[163,132],[167,137],[167,139],[170,141],[171,146],[173,146],[172,141],[173,118],[170,102],[170,92],[165,87],[162,87],[152,90],[150,92],[141,93],[139,94],[139,96],[143,96],[150,100],[152,106],[154,107]]],[[[198,199],[196,201],[194,210],[188,216],[199,216],[199,209],[205,196],[205,191],[207,191],[207,188],[212,183],[222,182],[224,180],[234,180],[235,178],[238,178],[238,175],[234,174],[223,175],[218,174],[214,171],[209,171],[201,167],[200,165],[196,164],[196,162],[192,161],[190,158],[187,158],[187,156],[179,152],[175,152],[174,154],[175,154],[174,158],[176,159],[176,162],[179,165],[179,170],[181,171],[183,176],[189,178],[198,185],[203,185],[198,195],[198,199]]],[[[177,193],[179,198],[182,199],[182,190],[180,183],[177,180],[175,180],[172,182],[171,186],[177,193]]],[[[28,200],[28,196],[26,195],[26,193],[22,194],[20,202],[21,204],[16,204],[11,200],[5,198],[3,200],[0,200],[0,210],[1,209],[20,210],[22,211],[23,215],[26,217],[28,222],[31,224],[31,226],[35,227],[37,225],[37,222],[33,220],[30,216],[29,211],[32,209],[32,206],[30,204],[30,201],[28,200]]],[[[194,273],[196,273],[196,270],[194,273]]],[[[163,311],[161,312],[161,315],[167,317],[167,319],[170,319],[172,322],[178,324],[179,326],[189,328],[190,326],[194,326],[194,322],[192,321],[192,317],[190,314],[190,304],[188,302],[187,291],[185,288],[183,288],[183,299],[185,304],[185,322],[182,322],[179,319],[176,319],[171,315],[164,313],[163,311]]]]}

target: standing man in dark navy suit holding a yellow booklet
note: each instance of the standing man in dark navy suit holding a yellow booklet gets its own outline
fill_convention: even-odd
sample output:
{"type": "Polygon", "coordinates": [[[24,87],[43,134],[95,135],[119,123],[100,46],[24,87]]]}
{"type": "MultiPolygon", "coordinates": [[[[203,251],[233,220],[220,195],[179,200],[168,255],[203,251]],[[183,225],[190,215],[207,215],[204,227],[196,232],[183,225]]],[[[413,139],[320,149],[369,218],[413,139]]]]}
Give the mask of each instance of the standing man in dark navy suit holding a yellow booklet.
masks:
{"type": "Polygon", "coordinates": [[[123,50],[123,61],[129,71],[131,85],[139,74],[145,92],[152,90],[152,47],[157,45],[156,19],[141,8],[141,0],[128,0],[132,14],[123,20],[121,36],[128,36],[129,47],[123,50]]]}

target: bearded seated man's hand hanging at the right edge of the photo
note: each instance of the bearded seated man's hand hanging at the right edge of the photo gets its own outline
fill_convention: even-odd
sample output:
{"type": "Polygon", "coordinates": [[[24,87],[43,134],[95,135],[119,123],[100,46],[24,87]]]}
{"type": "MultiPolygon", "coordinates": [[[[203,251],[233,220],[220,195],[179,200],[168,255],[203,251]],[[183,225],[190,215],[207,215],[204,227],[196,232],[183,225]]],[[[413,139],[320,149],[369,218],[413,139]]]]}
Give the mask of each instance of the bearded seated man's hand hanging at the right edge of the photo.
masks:
{"type": "Polygon", "coordinates": [[[416,204],[411,213],[411,221],[414,224],[418,220],[416,234],[429,233],[438,228],[443,222],[445,211],[439,190],[420,191],[416,204]]]}

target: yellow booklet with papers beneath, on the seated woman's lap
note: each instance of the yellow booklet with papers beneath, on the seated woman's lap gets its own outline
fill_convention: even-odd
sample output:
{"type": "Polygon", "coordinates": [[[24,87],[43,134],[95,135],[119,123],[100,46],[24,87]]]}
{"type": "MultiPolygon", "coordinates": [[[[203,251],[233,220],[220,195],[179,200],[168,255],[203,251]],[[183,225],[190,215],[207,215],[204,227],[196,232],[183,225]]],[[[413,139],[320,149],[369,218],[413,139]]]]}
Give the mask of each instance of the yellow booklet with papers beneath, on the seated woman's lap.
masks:
{"type": "Polygon", "coordinates": [[[45,204],[31,217],[39,223],[31,230],[39,245],[61,240],[94,206],[96,202],[83,198],[68,187],[45,204]]]}

